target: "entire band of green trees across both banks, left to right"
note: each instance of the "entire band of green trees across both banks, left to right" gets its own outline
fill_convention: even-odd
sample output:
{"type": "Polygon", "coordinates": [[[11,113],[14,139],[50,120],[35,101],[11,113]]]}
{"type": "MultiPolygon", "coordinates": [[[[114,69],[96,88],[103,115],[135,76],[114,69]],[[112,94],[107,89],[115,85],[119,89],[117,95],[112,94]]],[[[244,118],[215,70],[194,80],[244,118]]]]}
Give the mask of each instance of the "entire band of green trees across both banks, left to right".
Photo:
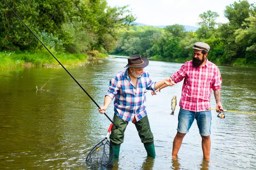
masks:
{"type": "MultiPolygon", "coordinates": [[[[6,0],[53,53],[119,54],[170,61],[190,60],[195,42],[211,47],[208,59],[222,65],[256,65],[256,4],[234,2],[219,14],[199,15],[197,31],[179,24],[154,28],[133,26],[128,6],[110,7],[106,0],[6,0]]],[[[0,51],[44,52],[45,49],[1,0],[0,51]]]]}

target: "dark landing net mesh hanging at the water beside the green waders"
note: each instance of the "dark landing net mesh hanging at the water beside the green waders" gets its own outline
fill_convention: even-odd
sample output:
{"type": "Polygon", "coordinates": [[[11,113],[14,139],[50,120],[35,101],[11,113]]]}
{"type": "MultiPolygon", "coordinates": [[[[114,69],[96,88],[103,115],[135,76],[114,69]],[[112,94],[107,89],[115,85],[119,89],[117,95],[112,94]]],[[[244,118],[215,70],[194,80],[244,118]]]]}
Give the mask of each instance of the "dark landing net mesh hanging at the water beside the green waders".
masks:
{"type": "Polygon", "coordinates": [[[107,138],[103,139],[87,155],[86,163],[95,170],[107,170],[113,166],[113,148],[107,138]]]}

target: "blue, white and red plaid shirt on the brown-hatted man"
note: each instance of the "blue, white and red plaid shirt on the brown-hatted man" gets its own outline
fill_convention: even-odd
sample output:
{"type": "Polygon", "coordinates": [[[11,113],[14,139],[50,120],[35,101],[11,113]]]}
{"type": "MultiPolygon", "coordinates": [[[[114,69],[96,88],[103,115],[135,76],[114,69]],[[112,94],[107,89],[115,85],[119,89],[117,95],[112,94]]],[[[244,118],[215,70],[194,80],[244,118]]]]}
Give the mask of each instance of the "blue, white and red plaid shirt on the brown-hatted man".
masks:
{"type": "Polygon", "coordinates": [[[126,121],[137,121],[147,115],[146,90],[153,90],[156,82],[152,82],[149,74],[144,70],[143,75],[137,79],[137,88],[134,87],[128,75],[128,68],[120,71],[109,82],[106,96],[114,100],[114,111],[117,116],[126,121]]]}

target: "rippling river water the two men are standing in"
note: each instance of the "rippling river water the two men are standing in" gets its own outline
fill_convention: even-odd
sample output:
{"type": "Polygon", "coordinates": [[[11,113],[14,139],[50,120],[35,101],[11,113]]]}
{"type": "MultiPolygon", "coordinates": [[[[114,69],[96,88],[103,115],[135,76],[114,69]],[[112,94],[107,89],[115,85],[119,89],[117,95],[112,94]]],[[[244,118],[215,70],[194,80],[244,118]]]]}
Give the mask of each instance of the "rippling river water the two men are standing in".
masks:
{"type": "MultiPolygon", "coordinates": [[[[127,59],[93,60],[70,73],[102,105],[111,77],[124,69],[127,59]]],[[[182,64],[150,61],[145,69],[153,81],[165,79],[182,64]]],[[[219,67],[224,109],[256,113],[255,68],[219,67]]],[[[171,116],[171,99],[181,96],[182,82],[151,96],[146,93],[147,112],[154,134],[155,159],[146,151],[137,130],[129,123],[125,142],[113,170],[241,170],[256,167],[256,115],[226,112],[219,119],[212,111],[210,161],[203,160],[201,136],[196,122],[183,139],[178,159],[172,160],[177,132],[177,105],[171,116]]],[[[63,68],[18,68],[0,71],[0,169],[89,170],[85,159],[105,138],[110,121],[63,68]],[[54,79],[52,79],[54,78],[54,79]],[[51,80],[50,80],[51,79],[51,80]],[[49,82],[47,82],[50,80],[49,82]],[[36,92],[44,86],[45,91],[36,92]]],[[[212,108],[215,99],[212,94],[212,108]]],[[[113,117],[113,103],[107,112],[113,117]]]]}

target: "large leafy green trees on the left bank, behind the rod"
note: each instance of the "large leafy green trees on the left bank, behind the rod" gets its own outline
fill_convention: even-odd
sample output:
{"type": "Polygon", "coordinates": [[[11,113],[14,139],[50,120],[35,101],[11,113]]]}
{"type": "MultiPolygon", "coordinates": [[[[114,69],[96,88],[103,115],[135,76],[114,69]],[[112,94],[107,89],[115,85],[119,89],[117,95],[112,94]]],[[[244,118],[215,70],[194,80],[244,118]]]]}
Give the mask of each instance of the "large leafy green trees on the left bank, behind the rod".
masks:
{"type": "MultiPolygon", "coordinates": [[[[112,51],[119,29],[135,20],[128,6],[106,0],[5,0],[52,52],[112,51]]],[[[44,51],[43,46],[0,1],[0,50],[44,51]]]]}

